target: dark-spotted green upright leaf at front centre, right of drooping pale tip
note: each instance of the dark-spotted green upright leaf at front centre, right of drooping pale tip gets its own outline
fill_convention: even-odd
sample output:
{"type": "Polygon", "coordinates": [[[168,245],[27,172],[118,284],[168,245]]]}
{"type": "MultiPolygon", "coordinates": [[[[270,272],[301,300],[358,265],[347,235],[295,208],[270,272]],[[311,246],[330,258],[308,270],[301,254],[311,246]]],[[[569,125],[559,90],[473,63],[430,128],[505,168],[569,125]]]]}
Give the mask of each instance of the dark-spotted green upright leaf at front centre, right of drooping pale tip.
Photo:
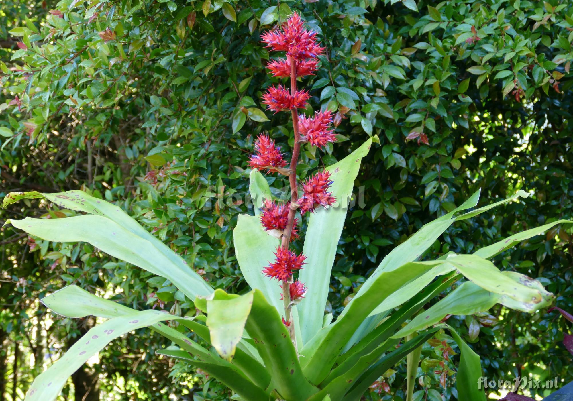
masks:
{"type": "Polygon", "coordinates": [[[305,400],[318,389],[303,374],[295,347],[274,306],[254,290],[253,305],[246,322],[246,330],[253,339],[265,367],[272,376],[272,384],[286,401],[305,400]]]}

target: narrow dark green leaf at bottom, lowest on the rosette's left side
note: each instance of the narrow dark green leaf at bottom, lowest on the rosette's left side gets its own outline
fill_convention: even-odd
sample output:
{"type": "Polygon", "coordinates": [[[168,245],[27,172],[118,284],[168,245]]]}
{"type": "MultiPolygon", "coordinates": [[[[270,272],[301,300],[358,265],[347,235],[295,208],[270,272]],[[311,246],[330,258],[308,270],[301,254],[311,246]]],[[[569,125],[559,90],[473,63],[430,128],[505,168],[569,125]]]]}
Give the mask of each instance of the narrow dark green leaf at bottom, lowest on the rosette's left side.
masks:
{"type": "Polygon", "coordinates": [[[171,349],[160,349],[155,352],[157,355],[165,355],[175,359],[183,360],[194,367],[207,372],[219,382],[224,383],[231,390],[236,392],[246,401],[265,401],[270,400],[269,392],[245,379],[240,371],[234,369],[232,365],[221,365],[198,361],[189,357],[185,351],[174,351],[171,349]]]}

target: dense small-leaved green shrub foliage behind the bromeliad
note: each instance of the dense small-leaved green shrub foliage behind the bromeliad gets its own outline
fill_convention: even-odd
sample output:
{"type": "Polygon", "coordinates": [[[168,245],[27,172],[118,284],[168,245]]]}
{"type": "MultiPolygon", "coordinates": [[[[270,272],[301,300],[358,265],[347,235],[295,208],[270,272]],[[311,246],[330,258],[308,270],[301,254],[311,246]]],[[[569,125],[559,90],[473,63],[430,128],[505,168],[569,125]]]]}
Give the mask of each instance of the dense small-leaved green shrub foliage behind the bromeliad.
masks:
{"type": "MultiPolygon", "coordinates": [[[[241,290],[231,229],[249,208],[245,150],[263,129],[278,143],[292,137],[288,119],[260,105],[262,89],[275,81],[262,68],[269,55],[260,27],[272,27],[294,9],[327,46],[310,104],[339,112],[336,132],[344,140],[326,152],[303,147],[303,176],[342,159],[368,136],[380,137],[355,183],[358,202],[331,282],[333,313],[393,245],[459,205],[460,194],[481,187],[489,199],[519,188],[534,195],[456,223],[428,257],[471,253],[518,229],[571,218],[573,7],[557,2],[3,2],[2,188],[83,186],[118,202],[213,286],[241,290]]],[[[283,190],[282,181],[269,183],[277,194],[283,190]]],[[[3,219],[21,213],[11,206],[3,219]]],[[[79,284],[115,293],[135,308],[193,311],[170,283],[106,260],[89,245],[34,241],[8,226],[1,241],[1,334],[10,344],[3,347],[10,355],[3,369],[13,379],[14,353],[23,354],[15,360],[26,368],[17,369],[15,383],[24,391],[40,369],[30,352],[34,361],[57,353],[68,343],[66,332],[83,330],[70,320],[53,324],[38,308],[38,296],[54,288],[79,284]],[[62,340],[46,340],[56,337],[62,340]],[[15,343],[22,349],[15,351],[15,343]]],[[[558,294],[559,306],[571,309],[571,241],[570,230],[556,227],[511,258],[498,256],[496,264],[539,278],[558,294]]],[[[503,326],[483,316],[449,323],[486,355],[486,376],[505,378],[509,371],[513,378],[523,367],[569,382],[560,344],[566,325],[556,316],[512,315],[503,326]]],[[[118,340],[117,347],[141,349],[141,370],[132,371],[131,361],[110,347],[101,367],[93,367],[108,372],[103,390],[119,376],[125,386],[116,391],[150,399],[181,386],[180,379],[170,383],[164,365],[150,362],[149,344],[130,341],[136,340],[118,340]],[[158,382],[141,373],[150,370],[158,382]]],[[[434,366],[442,354],[427,348],[423,357],[428,362],[417,390],[441,392],[434,366]]],[[[392,392],[401,391],[397,378],[404,374],[390,372],[379,388],[390,383],[392,392]]],[[[11,393],[12,380],[6,386],[11,393]]],[[[214,394],[210,386],[195,390],[195,396],[214,394]]]]}

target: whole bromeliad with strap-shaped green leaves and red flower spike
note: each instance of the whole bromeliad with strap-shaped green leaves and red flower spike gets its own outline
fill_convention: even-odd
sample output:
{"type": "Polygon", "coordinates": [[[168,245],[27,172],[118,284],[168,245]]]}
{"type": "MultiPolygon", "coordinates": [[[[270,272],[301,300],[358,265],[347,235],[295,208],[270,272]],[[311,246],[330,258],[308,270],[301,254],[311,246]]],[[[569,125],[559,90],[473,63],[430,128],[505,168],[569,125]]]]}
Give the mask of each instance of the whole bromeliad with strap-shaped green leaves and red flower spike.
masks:
{"type": "Polygon", "coordinates": [[[107,320],[92,328],[38,376],[26,400],[55,399],[68,376],[109,341],[149,327],[174,343],[173,347],[158,350],[158,354],[201,368],[238,397],[253,401],[359,400],[375,380],[406,356],[406,398],[411,399],[421,346],[445,329],[461,352],[456,380],[458,396],[484,401],[484,391],[478,389],[480,357],[452,328],[441,323],[442,319],[448,314],[484,312],[495,304],[528,313],[551,304],[554,296],[539,281],[515,272],[500,272],[489,259],[569,221],[553,221],[523,231],[473,254],[449,253],[437,260],[419,261],[455,221],[528,196],[519,191],[511,198],[467,211],[477,205],[476,192],[386,255],[335,321],[332,314],[325,315],[331,269],[348,200],[360,160],[376,138],[368,139],[299,187],[296,165],[301,144],[322,147],[335,140],[328,111],[318,112],[312,118],[297,114],[297,108],[304,107],[308,99],[307,92],[296,88],[297,77],[311,74],[318,67],[316,56],[324,49],[297,14],[282,26],[282,31],[266,33],[263,40],[272,50],[286,53],[285,60],[272,61],[268,68],[273,76],[290,77],[291,90],[281,85],[272,87],[264,95],[264,103],[275,112],[291,111],[295,142],[288,168],[280,148],[266,135],[258,137],[256,154],[249,162],[253,167],[250,195],[256,204],[256,215],[240,215],[233,237],[238,264],[252,290],[237,295],[211,288],[183,258],[127,213],[84,192],[14,192],[4,199],[7,205],[19,199],[45,198],[59,207],[83,212],[74,217],[25,218],[7,223],[47,241],[89,242],[113,257],[167,278],[204,313],[179,317],[158,310],[137,311],[77,286],[66,286],[42,302],[63,316],[91,314],[107,320]],[[290,202],[280,203],[272,198],[260,171],[288,176],[290,202]],[[302,237],[297,222],[308,215],[303,253],[296,254],[289,244],[302,237]],[[462,278],[465,280],[444,298],[422,310],[462,278]],[[167,320],[179,322],[178,329],[162,323],[167,320]],[[212,348],[193,341],[191,332],[212,348]]]}

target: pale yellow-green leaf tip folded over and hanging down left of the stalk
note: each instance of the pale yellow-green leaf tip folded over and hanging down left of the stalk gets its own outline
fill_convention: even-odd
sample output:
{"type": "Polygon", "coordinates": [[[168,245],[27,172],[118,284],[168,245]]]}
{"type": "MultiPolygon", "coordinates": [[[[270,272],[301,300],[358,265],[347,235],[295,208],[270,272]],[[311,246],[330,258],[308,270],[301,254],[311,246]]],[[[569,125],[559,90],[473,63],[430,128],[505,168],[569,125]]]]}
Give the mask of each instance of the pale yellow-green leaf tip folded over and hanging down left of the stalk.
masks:
{"type": "Polygon", "coordinates": [[[240,297],[227,297],[223,290],[217,289],[207,298],[207,327],[211,344],[223,359],[230,361],[235,355],[252,303],[252,291],[240,297]]]}

